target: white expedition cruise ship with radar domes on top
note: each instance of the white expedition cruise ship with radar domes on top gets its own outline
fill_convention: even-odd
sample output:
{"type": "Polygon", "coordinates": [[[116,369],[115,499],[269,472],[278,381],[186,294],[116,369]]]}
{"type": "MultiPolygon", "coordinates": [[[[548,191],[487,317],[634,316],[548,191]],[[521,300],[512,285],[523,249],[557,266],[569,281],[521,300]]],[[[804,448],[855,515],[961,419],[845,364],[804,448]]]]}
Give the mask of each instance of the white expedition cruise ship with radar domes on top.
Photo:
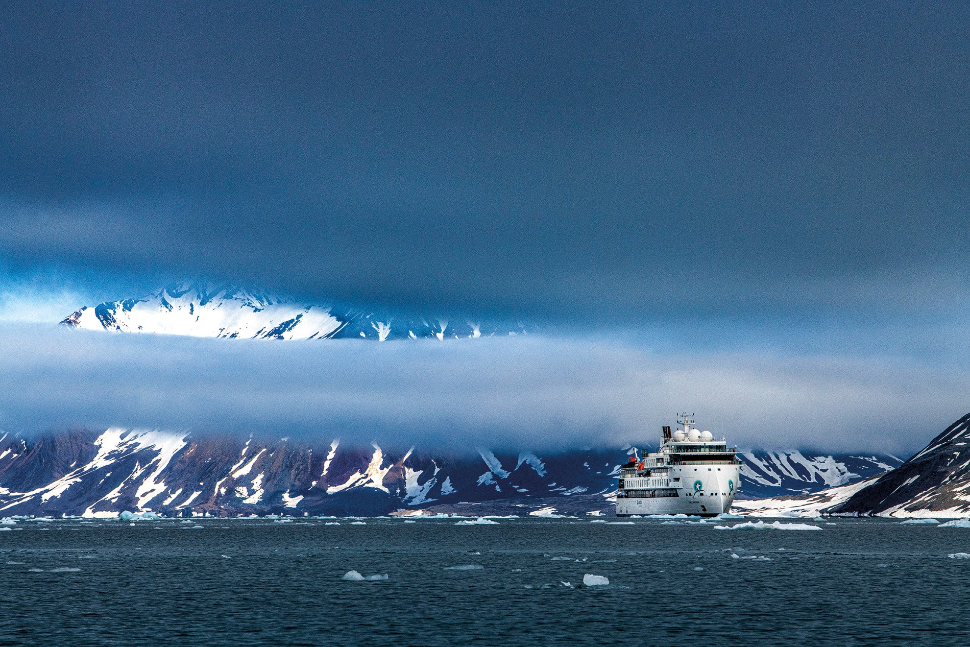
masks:
{"type": "Polygon", "coordinates": [[[663,427],[660,450],[640,457],[636,448],[620,469],[616,516],[691,514],[713,517],[730,509],[741,486],[737,447],[696,430],[682,414],[673,434],[663,427]]]}

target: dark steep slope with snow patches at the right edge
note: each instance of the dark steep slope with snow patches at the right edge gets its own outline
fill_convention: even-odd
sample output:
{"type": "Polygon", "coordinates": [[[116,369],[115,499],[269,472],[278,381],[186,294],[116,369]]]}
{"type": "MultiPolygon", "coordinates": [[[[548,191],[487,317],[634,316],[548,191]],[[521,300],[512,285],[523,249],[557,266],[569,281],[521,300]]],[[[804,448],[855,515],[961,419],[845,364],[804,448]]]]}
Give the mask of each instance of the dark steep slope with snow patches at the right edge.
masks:
{"type": "Polygon", "coordinates": [[[970,516],[970,413],[903,465],[827,511],[892,517],[970,516]]]}

